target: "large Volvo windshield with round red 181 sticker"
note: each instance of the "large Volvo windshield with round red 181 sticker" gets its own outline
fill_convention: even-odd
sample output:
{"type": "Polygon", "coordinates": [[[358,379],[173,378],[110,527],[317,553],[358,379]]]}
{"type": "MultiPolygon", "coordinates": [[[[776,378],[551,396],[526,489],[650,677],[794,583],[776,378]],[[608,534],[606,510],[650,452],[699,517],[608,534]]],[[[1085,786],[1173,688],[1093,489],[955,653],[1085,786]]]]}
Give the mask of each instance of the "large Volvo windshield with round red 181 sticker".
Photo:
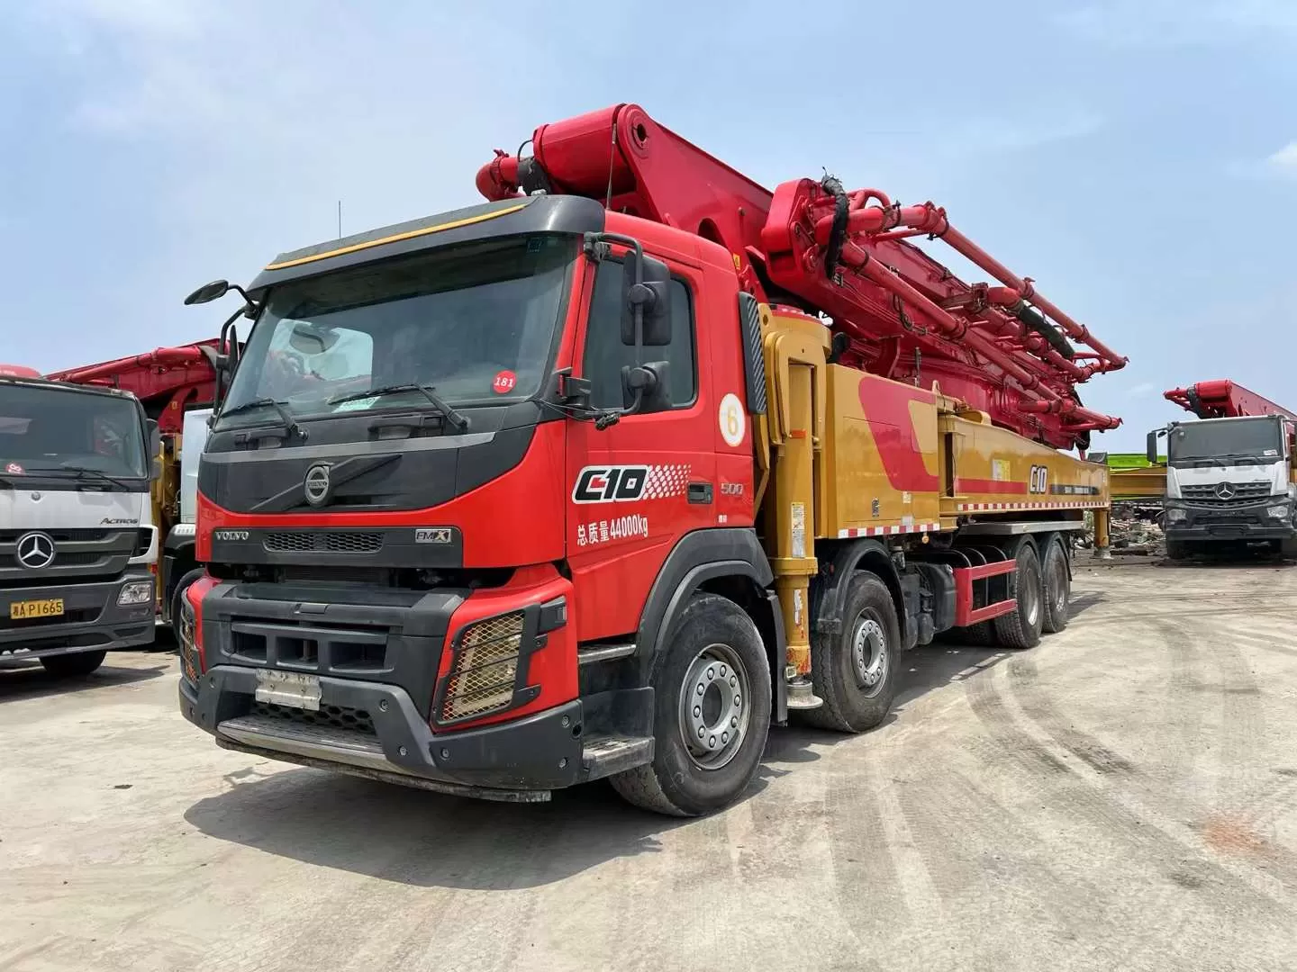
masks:
{"type": "Polygon", "coordinates": [[[507,237],[272,289],[222,411],[243,424],[271,402],[314,417],[436,408],[418,388],[364,395],[399,385],[451,407],[529,398],[575,257],[571,236],[507,237]]]}

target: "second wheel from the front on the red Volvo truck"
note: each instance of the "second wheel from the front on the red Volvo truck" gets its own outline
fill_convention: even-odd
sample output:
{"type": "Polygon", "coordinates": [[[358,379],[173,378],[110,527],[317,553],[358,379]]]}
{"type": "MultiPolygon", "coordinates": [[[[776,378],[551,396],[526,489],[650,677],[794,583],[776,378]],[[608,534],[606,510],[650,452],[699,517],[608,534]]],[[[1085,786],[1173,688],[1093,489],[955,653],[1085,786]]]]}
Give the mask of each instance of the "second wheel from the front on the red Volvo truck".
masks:
{"type": "Polygon", "coordinates": [[[842,631],[811,636],[811,682],[824,705],[802,712],[800,719],[838,732],[872,730],[896,697],[899,651],[891,591],[874,574],[856,574],[847,586],[842,631]]]}

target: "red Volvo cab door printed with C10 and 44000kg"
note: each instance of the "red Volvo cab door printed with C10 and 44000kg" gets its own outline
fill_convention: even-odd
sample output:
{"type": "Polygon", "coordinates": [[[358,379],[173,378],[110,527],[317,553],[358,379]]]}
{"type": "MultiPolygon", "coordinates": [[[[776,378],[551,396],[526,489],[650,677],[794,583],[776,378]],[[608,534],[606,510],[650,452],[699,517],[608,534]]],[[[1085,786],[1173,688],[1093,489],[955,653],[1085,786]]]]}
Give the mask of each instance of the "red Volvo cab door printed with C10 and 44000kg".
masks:
{"type": "MultiPolygon", "coordinates": [[[[709,400],[711,356],[698,337],[703,306],[698,270],[667,260],[672,270],[672,338],[642,349],[641,363],[668,362],[671,407],[624,416],[604,430],[569,422],[567,550],[582,642],[629,635],[654,579],[676,542],[716,522],[715,408],[709,400]]],[[[629,404],[621,369],[636,349],[621,343],[624,266],[612,257],[588,264],[584,333],[577,336],[575,373],[590,381],[595,408],[629,404]]]]}

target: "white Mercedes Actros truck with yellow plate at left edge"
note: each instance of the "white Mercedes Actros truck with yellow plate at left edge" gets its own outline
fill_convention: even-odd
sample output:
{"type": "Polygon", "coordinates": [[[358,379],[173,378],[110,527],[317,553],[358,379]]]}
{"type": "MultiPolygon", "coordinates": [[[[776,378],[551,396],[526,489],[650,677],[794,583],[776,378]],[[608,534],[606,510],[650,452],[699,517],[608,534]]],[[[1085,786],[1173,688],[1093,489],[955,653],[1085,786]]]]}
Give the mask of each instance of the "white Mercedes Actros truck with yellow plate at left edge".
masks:
{"type": "Polygon", "coordinates": [[[153,642],[157,447],[132,395],[0,368],[0,661],[86,675],[153,642]]]}

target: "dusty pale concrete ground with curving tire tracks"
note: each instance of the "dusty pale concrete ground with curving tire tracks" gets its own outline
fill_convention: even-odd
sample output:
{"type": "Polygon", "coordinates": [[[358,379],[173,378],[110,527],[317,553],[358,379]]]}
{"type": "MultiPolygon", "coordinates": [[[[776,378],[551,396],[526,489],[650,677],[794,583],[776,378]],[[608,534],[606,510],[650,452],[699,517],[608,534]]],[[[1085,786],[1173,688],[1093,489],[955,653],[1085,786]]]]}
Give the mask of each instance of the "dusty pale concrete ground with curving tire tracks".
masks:
{"type": "Polygon", "coordinates": [[[228,753],[175,658],[0,671],[0,969],[1297,968],[1297,568],[1082,569],[678,822],[228,753]]]}

